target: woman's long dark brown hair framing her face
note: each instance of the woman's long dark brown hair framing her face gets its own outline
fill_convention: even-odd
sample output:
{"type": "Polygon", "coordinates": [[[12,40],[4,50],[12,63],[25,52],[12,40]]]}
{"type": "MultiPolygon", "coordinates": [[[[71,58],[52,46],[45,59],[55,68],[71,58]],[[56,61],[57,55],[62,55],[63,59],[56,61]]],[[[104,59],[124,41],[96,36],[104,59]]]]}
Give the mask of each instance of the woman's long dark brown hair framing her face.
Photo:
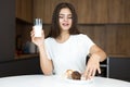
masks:
{"type": "Polygon", "coordinates": [[[57,38],[60,36],[61,29],[60,29],[58,15],[60,15],[61,9],[63,9],[63,8],[68,8],[73,15],[73,24],[72,24],[72,27],[69,28],[69,34],[70,35],[80,34],[80,32],[77,28],[78,18],[77,18],[77,13],[75,11],[75,8],[70,3],[62,2],[62,3],[58,3],[56,5],[56,8],[54,9],[54,12],[52,15],[51,29],[47,37],[57,38]]]}

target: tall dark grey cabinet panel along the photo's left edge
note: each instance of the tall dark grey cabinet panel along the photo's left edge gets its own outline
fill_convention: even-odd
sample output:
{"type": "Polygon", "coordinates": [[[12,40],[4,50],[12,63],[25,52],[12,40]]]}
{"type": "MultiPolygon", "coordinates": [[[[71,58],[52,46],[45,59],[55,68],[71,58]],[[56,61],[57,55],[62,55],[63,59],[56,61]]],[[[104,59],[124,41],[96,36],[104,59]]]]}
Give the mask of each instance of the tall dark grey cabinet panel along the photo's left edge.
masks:
{"type": "Polygon", "coordinates": [[[14,59],[15,0],[0,0],[0,62],[14,59]]]}

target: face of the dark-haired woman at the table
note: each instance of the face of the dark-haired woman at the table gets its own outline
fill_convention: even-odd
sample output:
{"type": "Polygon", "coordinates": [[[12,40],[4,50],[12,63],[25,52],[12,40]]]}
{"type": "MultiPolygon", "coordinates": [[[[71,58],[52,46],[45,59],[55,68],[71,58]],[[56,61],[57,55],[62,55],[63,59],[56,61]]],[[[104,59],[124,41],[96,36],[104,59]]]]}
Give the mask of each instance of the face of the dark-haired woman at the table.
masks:
{"type": "Polygon", "coordinates": [[[68,8],[61,9],[58,15],[60,27],[62,30],[68,30],[72,27],[73,18],[68,8]]]}

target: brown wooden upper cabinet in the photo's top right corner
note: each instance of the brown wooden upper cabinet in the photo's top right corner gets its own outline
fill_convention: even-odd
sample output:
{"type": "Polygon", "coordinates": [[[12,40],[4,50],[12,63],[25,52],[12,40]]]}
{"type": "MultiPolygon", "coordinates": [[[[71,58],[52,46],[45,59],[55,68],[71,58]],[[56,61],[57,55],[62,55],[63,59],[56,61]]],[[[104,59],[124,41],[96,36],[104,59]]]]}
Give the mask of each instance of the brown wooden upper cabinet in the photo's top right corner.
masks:
{"type": "Polygon", "coordinates": [[[108,23],[130,23],[130,1],[108,0],[108,23]]]}

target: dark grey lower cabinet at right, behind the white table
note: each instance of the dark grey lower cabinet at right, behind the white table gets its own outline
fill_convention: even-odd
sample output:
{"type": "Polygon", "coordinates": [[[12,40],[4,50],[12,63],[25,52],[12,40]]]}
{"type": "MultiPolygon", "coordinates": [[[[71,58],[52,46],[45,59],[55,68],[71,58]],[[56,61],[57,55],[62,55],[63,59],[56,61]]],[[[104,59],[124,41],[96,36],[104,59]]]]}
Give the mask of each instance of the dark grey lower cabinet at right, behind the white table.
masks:
{"type": "Polygon", "coordinates": [[[109,57],[109,77],[130,82],[130,57],[109,57]]]}

